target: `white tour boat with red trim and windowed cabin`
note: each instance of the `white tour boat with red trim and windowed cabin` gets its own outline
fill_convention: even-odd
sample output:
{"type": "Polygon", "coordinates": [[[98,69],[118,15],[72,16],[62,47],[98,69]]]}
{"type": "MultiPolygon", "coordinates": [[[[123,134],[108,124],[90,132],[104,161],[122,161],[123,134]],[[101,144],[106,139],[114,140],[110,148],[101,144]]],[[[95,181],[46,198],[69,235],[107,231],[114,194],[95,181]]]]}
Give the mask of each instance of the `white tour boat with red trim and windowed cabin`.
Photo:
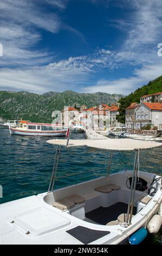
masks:
{"type": "Polygon", "coordinates": [[[62,129],[59,124],[31,123],[21,120],[16,127],[9,127],[14,135],[28,136],[66,136],[67,129],[62,129]]]}

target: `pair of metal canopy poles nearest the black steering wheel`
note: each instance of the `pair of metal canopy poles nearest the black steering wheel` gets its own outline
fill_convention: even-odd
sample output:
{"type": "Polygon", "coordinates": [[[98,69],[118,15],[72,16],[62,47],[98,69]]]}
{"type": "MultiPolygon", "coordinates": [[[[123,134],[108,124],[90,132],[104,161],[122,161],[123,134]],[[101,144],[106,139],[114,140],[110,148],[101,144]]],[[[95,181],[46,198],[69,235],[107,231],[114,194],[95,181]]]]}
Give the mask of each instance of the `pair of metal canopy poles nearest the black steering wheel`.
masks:
{"type": "Polygon", "coordinates": [[[125,227],[130,225],[131,221],[132,221],[134,196],[135,196],[135,188],[136,188],[136,184],[137,184],[138,172],[139,172],[139,149],[136,149],[135,150],[133,175],[132,175],[132,183],[131,183],[131,192],[130,192],[130,197],[129,197],[128,210],[127,210],[127,218],[126,218],[125,227]]]}

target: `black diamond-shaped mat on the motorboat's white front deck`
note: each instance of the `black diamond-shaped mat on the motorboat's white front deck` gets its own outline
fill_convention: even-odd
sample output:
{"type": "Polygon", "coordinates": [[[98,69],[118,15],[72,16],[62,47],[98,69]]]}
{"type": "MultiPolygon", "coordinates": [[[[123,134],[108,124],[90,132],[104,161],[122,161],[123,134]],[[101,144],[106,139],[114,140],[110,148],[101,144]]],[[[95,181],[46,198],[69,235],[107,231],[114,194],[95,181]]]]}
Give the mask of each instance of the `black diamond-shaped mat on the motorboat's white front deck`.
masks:
{"type": "Polygon", "coordinates": [[[66,232],[74,236],[77,240],[81,241],[85,245],[110,233],[109,231],[94,230],[82,226],[77,226],[75,228],[67,230],[66,232]]]}

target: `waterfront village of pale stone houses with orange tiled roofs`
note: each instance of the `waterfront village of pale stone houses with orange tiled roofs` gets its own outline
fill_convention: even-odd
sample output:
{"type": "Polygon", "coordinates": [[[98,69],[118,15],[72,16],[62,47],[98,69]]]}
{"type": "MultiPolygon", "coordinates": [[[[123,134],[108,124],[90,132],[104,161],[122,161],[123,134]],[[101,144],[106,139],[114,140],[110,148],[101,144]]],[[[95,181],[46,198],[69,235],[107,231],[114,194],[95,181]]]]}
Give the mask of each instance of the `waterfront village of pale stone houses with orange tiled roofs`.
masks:
{"type": "MultiPolygon", "coordinates": [[[[116,119],[119,115],[119,103],[111,106],[101,104],[99,106],[82,105],[80,109],[68,107],[67,111],[62,111],[62,119],[67,120],[68,124],[83,123],[88,127],[88,119],[93,119],[90,129],[95,130],[95,123],[102,120],[103,125],[100,130],[105,129],[105,123],[109,120],[110,127],[122,127],[120,121],[116,119]],[[66,116],[67,115],[67,116],[66,116]]],[[[162,92],[140,97],[140,103],[132,102],[125,109],[125,127],[129,130],[162,130],[162,92]]]]}

